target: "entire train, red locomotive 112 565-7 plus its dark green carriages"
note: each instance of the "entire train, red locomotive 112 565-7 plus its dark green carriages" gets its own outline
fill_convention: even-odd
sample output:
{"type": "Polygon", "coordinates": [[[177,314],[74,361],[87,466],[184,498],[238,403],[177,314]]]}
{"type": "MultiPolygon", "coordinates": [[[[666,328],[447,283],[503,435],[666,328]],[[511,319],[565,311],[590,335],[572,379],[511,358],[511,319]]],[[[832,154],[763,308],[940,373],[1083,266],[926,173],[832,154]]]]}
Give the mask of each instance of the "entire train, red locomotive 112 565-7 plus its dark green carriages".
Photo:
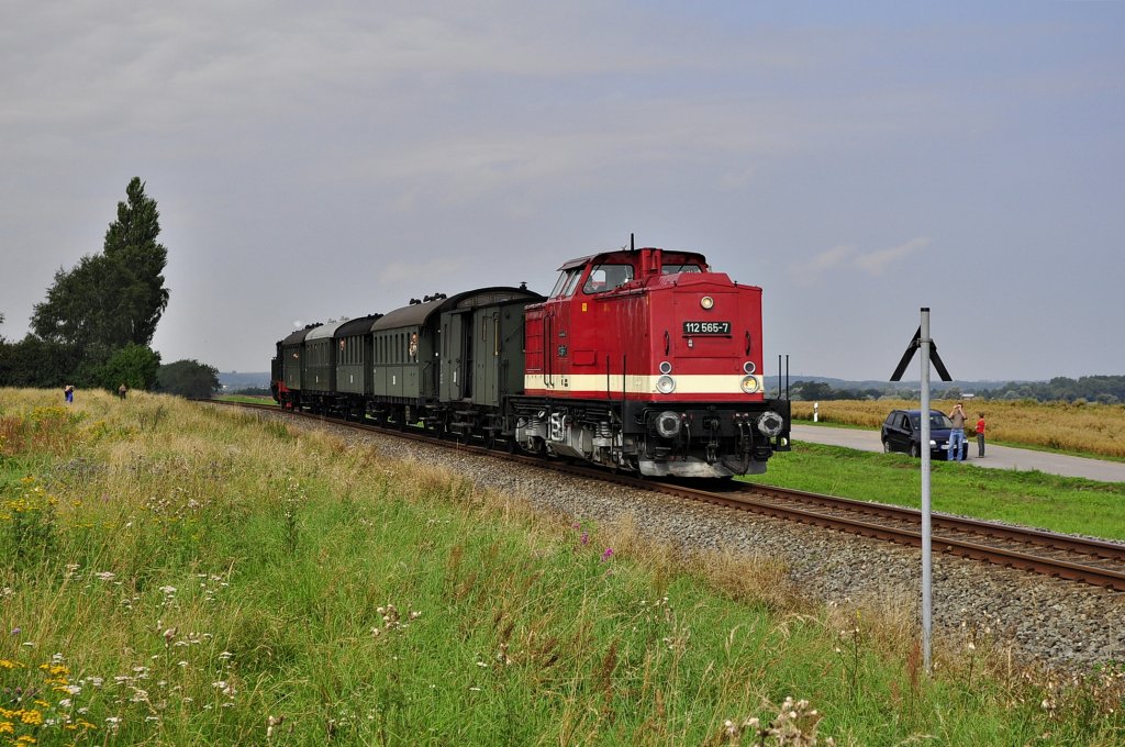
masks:
{"type": "Polygon", "coordinates": [[[423,426],[648,476],[765,471],[789,450],[766,399],[762,289],[659,249],[567,262],[524,287],[428,296],[277,343],[285,407],[423,426]]]}

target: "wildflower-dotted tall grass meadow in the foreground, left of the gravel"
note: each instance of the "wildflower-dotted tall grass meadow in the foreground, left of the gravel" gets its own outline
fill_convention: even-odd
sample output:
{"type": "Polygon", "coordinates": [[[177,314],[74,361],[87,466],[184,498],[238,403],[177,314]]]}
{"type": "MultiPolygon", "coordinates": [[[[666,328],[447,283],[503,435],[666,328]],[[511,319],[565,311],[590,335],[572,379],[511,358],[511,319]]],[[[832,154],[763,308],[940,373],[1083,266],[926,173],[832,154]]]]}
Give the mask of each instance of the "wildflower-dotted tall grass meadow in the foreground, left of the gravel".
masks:
{"type": "Polygon", "coordinates": [[[927,677],[901,614],[810,608],[768,559],[543,519],[252,416],[53,402],[0,390],[12,744],[1125,738],[1113,670],[1007,669],[972,630],[927,677]]]}

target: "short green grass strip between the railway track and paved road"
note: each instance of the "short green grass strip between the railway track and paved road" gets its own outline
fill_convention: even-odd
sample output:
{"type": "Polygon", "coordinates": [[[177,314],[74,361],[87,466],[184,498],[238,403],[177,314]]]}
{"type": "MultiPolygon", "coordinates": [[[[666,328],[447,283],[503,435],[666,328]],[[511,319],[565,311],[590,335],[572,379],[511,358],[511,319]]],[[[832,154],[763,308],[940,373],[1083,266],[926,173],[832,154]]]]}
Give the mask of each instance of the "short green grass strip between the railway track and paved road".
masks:
{"type": "MultiPolygon", "coordinates": [[[[799,442],[748,482],[918,507],[921,471],[906,454],[799,442]]],[[[1125,485],[934,460],[934,511],[1125,541],[1125,485]]]]}

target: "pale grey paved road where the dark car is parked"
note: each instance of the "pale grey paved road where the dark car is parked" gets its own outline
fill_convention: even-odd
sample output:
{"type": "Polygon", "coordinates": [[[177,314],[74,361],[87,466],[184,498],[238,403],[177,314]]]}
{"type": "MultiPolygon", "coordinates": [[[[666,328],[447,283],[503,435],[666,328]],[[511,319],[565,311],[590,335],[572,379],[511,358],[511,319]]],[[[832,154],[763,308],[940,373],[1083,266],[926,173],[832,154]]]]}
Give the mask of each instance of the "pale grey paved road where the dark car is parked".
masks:
{"type": "MultiPolygon", "coordinates": [[[[867,431],[850,428],[832,428],[830,425],[793,425],[793,440],[810,443],[827,443],[834,447],[847,447],[861,451],[882,451],[879,431],[867,431]]],[[[992,467],[998,469],[1037,469],[1051,475],[1066,477],[1086,477],[1102,483],[1125,483],[1125,462],[1101,461],[1083,457],[1068,457],[1046,451],[998,447],[991,443],[984,447],[984,458],[976,458],[976,439],[969,441],[969,464],[974,467],[992,467]]]]}

